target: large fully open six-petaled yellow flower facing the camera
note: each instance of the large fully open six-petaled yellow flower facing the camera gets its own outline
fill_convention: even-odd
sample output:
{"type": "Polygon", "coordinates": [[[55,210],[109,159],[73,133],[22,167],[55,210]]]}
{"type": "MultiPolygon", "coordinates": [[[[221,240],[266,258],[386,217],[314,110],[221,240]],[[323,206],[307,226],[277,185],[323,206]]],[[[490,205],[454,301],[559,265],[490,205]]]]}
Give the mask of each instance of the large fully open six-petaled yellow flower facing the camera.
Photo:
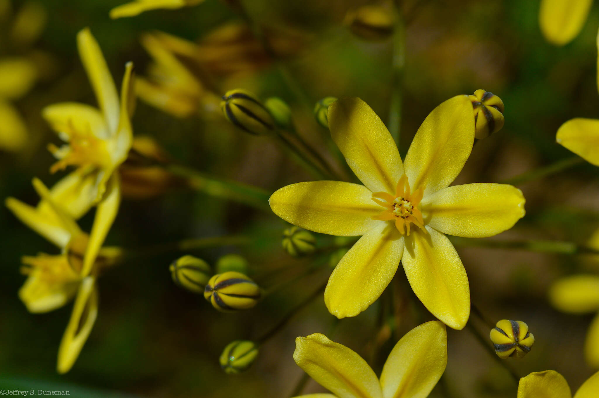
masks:
{"type": "Polygon", "coordinates": [[[311,181],[277,190],[274,213],[289,223],[339,236],[362,235],[338,263],[325,303],[338,318],[358,315],[403,263],[412,289],[435,317],[462,329],[470,314],[468,278],[444,235],[483,238],[524,216],[524,197],[504,184],[448,187],[470,155],[473,110],[456,96],[426,117],[404,163],[385,124],[359,98],[329,107],[329,128],[364,186],[311,181]]]}

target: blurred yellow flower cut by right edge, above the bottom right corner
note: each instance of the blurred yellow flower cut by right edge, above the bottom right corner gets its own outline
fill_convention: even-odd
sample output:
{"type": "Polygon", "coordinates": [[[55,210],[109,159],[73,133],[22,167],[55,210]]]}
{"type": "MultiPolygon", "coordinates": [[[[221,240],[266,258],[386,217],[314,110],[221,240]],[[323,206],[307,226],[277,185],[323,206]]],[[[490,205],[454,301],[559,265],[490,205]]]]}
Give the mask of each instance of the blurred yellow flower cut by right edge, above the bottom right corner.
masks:
{"type": "MultiPolygon", "coordinates": [[[[549,289],[549,300],[559,311],[588,314],[599,311],[599,276],[573,275],[555,282],[549,289]]],[[[599,368],[599,312],[586,333],[586,361],[599,368]]]]}

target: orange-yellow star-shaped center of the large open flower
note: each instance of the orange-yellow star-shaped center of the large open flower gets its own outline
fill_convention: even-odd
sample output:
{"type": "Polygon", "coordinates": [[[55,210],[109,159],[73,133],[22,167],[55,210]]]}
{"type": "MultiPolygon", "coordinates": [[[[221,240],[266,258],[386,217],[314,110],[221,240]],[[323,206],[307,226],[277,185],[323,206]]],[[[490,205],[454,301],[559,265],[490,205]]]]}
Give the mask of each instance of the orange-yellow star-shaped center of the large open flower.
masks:
{"type": "Polygon", "coordinates": [[[407,175],[402,175],[397,183],[395,195],[387,192],[375,192],[372,199],[379,203],[385,210],[374,215],[375,220],[395,221],[395,227],[401,235],[410,235],[410,224],[415,224],[426,233],[422,213],[418,208],[424,187],[419,187],[413,193],[410,191],[407,175]]]}

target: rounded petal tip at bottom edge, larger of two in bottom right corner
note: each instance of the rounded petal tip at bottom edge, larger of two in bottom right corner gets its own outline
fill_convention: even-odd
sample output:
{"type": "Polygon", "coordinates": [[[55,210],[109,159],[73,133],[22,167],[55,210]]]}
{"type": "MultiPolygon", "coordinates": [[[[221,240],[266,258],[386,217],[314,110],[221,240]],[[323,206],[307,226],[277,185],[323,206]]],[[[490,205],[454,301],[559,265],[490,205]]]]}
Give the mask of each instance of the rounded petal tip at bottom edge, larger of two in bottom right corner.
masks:
{"type": "Polygon", "coordinates": [[[564,376],[555,370],[533,372],[520,379],[518,398],[571,398],[564,376]]]}

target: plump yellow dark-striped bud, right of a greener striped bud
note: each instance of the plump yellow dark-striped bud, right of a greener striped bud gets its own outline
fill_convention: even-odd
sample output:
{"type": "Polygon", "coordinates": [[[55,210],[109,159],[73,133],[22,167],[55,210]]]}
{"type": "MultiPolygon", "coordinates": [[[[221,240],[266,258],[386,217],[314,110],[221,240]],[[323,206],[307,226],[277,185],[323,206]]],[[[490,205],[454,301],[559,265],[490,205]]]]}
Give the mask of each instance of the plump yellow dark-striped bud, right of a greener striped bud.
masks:
{"type": "Polygon", "coordinates": [[[223,312],[252,308],[260,295],[256,282],[235,271],[214,275],[204,289],[205,299],[223,312]]]}

